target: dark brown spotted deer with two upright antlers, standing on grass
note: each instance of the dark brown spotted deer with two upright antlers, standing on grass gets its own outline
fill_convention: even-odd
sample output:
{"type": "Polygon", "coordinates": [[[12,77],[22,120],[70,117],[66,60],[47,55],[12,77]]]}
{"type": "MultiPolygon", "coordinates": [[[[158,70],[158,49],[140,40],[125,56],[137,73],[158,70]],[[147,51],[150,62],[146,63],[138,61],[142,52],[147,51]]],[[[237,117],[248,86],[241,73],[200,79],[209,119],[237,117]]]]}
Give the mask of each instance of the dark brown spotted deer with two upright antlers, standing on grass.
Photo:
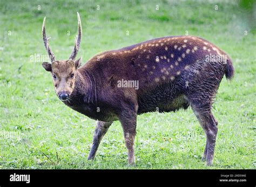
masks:
{"type": "Polygon", "coordinates": [[[128,164],[135,164],[137,116],[191,107],[206,135],[202,160],[212,165],[218,131],[212,105],[224,75],[227,80],[234,76],[231,58],[203,38],[167,36],[98,53],[81,66],[82,57],[76,60],[82,38],[78,12],[77,17],[78,35],[68,60],[56,60],[46,37],[44,17],[43,41],[51,63],[42,66],[51,73],[58,98],[97,121],[87,159],[95,158],[112,122],[120,121],[128,164]],[[137,89],[127,81],[136,81],[137,89]]]}

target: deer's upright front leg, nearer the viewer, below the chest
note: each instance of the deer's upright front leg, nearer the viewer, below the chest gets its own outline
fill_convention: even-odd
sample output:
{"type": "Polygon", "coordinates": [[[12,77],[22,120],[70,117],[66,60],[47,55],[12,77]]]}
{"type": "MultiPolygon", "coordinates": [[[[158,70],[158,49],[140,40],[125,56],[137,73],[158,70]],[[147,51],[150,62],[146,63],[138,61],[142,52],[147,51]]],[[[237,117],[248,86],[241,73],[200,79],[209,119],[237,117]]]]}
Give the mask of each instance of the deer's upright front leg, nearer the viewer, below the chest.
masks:
{"type": "Polygon", "coordinates": [[[120,115],[119,120],[123,127],[125,145],[128,150],[128,163],[134,164],[134,138],[136,135],[137,114],[134,112],[125,112],[120,115]]]}

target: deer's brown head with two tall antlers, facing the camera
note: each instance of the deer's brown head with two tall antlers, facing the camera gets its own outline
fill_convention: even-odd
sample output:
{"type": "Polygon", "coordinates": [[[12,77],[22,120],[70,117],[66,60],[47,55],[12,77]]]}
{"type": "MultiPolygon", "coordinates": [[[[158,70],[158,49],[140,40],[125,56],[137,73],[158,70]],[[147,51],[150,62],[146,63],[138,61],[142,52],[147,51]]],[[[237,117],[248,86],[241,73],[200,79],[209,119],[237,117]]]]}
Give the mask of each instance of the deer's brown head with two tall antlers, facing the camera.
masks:
{"type": "Polygon", "coordinates": [[[73,89],[75,87],[75,77],[76,77],[76,70],[81,65],[82,58],[76,59],[79,47],[80,47],[80,41],[82,37],[82,25],[79,13],[77,12],[77,18],[78,18],[78,36],[75,40],[75,46],[71,53],[71,56],[68,60],[56,60],[55,55],[53,54],[50,46],[49,46],[49,39],[46,37],[45,33],[45,17],[42,27],[42,33],[43,33],[43,40],[44,40],[44,46],[46,51],[49,54],[49,57],[51,59],[51,63],[44,62],[42,66],[44,69],[48,72],[51,72],[52,75],[52,82],[55,87],[55,92],[58,95],[60,100],[68,100],[69,96],[73,92],[73,89]]]}

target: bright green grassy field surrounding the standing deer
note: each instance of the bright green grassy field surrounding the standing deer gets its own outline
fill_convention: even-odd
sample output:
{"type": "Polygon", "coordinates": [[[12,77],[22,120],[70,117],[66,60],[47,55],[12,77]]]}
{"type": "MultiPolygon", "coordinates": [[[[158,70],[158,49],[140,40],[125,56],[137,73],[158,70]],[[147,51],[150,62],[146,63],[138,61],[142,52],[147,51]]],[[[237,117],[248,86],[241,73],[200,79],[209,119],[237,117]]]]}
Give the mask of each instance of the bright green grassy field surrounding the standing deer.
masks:
{"type": "Polygon", "coordinates": [[[255,169],[256,32],[238,1],[226,2],[1,1],[0,168],[255,169]],[[77,11],[83,64],[98,52],[186,33],[210,40],[231,56],[235,77],[223,79],[213,106],[219,131],[212,167],[200,160],[206,138],[190,108],[138,116],[134,167],[127,165],[119,122],[110,127],[95,161],[86,160],[96,122],[58,100],[51,75],[41,66],[47,57],[44,16],[56,58],[68,59],[77,11]]]}

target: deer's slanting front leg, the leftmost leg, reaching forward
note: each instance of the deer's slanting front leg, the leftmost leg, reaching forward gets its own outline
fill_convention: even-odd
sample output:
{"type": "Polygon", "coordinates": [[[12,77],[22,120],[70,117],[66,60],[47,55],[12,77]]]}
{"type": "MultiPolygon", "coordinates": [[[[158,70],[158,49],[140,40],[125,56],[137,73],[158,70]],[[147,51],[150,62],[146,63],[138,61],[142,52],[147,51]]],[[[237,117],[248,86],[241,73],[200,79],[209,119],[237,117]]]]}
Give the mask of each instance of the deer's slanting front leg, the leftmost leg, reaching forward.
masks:
{"type": "Polygon", "coordinates": [[[92,147],[88,156],[88,160],[95,158],[96,151],[103,136],[106,134],[107,129],[111,126],[112,122],[97,121],[95,132],[93,135],[92,147]]]}

